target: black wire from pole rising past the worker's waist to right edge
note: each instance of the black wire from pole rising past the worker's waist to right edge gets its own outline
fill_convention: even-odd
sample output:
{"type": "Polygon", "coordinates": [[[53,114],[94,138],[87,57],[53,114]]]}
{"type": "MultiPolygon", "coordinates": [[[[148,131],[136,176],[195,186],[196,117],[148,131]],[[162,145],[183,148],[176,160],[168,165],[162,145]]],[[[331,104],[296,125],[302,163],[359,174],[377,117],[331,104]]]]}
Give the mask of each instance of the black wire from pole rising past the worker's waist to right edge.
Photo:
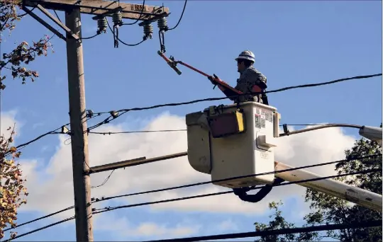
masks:
{"type": "MultiPolygon", "coordinates": [[[[272,91],[265,91],[264,93],[277,93],[277,92],[287,91],[287,90],[291,90],[291,89],[295,89],[295,88],[308,88],[308,87],[313,87],[313,86],[325,86],[325,85],[330,85],[330,84],[341,82],[341,81],[349,81],[352,79],[367,79],[367,78],[372,78],[375,76],[382,76],[382,73],[365,75],[365,76],[353,76],[353,77],[337,79],[337,80],[333,80],[333,81],[326,81],[326,82],[322,82],[322,83],[311,83],[311,84],[304,84],[304,85],[298,85],[298,86],[287,86],[284,88],[274,89],[272,91]]],[[[256,95],[256,94],[261,94],[261,93],[251,93],[251,94],[256,95]]],[[[121,115],[128,113],[128,112],[131,112],[131,111],[150,110],[150,109],[155,109],[155,108],[174,107],[174,106],[179,106],[179,105],[189,105],[189,104],[193,104],[193,103],[201,103],[201,102],[206,102],[206,101],[237,98],[238,96],[243,96],[243,95],[249,95],[249,93],[243,93],[241,95],[230,96],[230,97],[197,99],[197,100],[191,100],[191,101],[182,102],[182,103],[165,103],[165,104],[152,105],[152,106],[148,106],[148,107],[144,107],[144,108],[129,108],[129,109],[118,110],[116,112],[120,113],[119,115],[117,115],[117,117],[120,117],[121,115]]],[[[100,113],[96,113],[96,114],[102,115],[102,114],[106,114],[106,113],[111,113],[111,112],[100,112],[100,113]]],[[[115,120],[117,117],[113,117],[113,120],[115,120]]],[[[109,119],[110,119],[110,117],[106,118],[106,120],[104,120],[103,122],[99,122],[97,125],[94,125],[93,127],[89,127],[89,130],[95,129],[96,127],[99,127],[101,125],[109,123],[111,121],[109,119]]]]}

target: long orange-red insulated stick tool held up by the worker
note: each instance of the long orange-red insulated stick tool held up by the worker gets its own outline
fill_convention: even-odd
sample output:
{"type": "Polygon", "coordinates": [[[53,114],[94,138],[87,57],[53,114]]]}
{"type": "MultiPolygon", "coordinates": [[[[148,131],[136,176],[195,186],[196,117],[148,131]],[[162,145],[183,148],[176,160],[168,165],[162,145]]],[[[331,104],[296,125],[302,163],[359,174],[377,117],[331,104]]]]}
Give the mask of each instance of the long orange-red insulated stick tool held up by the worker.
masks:
{"type": "MultiPolygon", "coordinates": [[[[216,76],[216,74],[213,74],[213,76],[209,75],[209,74],[206,74],[204,73],[203,71],[200,71],[199,69],[196,69],[194,67],[191,67],[189,64],[186,64],[182,61],[176,61],[174,60],[174,57],[170,56],[169,58],[167,58],[165,56],[165,54],[161,51],[158,51],[157,52],[163,59],[165,59],[165,61],[167,62],[167,64],[169,64],[170,67],[172,67],[172,69],[174,69],[174,71],[177,72],[177,74],[181,75],[182,72],[179,71],[179,69],[177,68],[177,64],[182,64],[184,67],[187,67],[193,71],[196,71],[198,72],[199,74],[203,75],[203,76],[206,76],[206,77],[211,77],[213,79],[213,83],[215,85],[218,85],[220,87],[220,89],[222,90],[225,89],[225,94],[226,96],[238,96],[240,94],[243,94],[241,91],[238,91],[237,89],[231,87],[228,85],[228,83],[222,81],[221,79],[218,78],[218,76],[216,76]]],[[[215,87],[215,86],[214,86],[215,87]]]]}

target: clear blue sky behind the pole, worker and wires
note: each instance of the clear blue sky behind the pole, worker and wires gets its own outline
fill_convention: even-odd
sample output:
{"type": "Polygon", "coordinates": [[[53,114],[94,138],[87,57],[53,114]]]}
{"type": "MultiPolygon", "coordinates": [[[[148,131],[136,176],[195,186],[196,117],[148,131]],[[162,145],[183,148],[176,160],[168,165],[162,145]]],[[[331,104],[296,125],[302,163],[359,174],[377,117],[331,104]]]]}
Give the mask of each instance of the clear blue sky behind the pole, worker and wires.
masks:
{"type": "MultiPolygon", "coordinates": [[[[163,3],[172,12],[168,18],[172,27],[179,19],[184,1],[163,3]]],[[[161,5],[162,1],[147,1],[146,4],[161,5]]],[[[63,14],[59,12],[59,16],[64,21],[63,14]]],[[[82,15],[82,25],[83,37],[94,34],[96,23],[91,16],[82,15]]],[[[11,50],[15,46],[13,42],[32,42],[43,34],[52,35],[33,18],[26,17],[2,43],[1,52],[11,50]]],[[[119,35],[121,40],[135,43],[142,38],[142,28],[123,26],[119,35]]],[[[15,118],[23,124],[21,136],[16,139],[18,144],[69,120],[65,42],[55,37],[52,44],[55,53],[30,65],[40,73],[35,83],[22,86],[21,81],[9,78],[6,90],[1,94],[1,111],[16,110],[15,118]]],[[[182,22],[175,30],[166,33],[165,44],[168,56],[173,55],[207,73],[217,74],[232,86],[238,78],[234,59],[243,50],[255,53],[255,67],[267,76],[268,90],[377,74],[382,72],[382,4],[379,1],[188,1],[182,22]]],[[[180,67],[182,75],[175,74],[157,55],[159,47],[156,34],[152,40],[137,47],[120,44],[113,48],[110,31],[84,40],[87,108],[101,112],[223,96],[218,88],[213,90],[211,83],[196,72],[180,67]]],[[[269,101],[282,114],[282,123],[341,122],[377,126],[382,122],[382,79],[270,93],[269,101]]],[[[208,105],[229,102],[128,113],[116,124],[142,128],[148,123],[142,120],[152,120],[164,111],[182,117],[208,105]]],[[[357,135],[350,129],[344,129],[344,132],[357,135]]],[[[59,144],[60,140],[55,136],[41,139],[23,149],[23,159],[38,159],[40,168],[47,166],[59,144]]],[[[284,202],[294,204],[295,200],[290,197],[284,202]]],[[[297,220],[294,212],[284,211],[289,218],[297,220]]],[[[239,231],[251,231],[255,220],[268,219],[267,214],[243,217],[242,214],[175,210],[153,215],[145,208],[123,209],[115,215],[121,213],[131,219],[131,223],[151,220],[158,224],[174,224],[187,217],[191,221],[187,223],[202,226],[193,236],[222,233],[211,224],[226,219],[231,219],[239,231]]],[[[21,212],[19,221],[39,215],[41,211],[21,212]]],[[[43,224],[45,222],[22,227],[20,232],[43,224]]],[[[97,241],[121,239],[101,230],[95,230],[94,236],[97,241]]],[[[20,239],[25,240],[74,240],[74,226],[57,226],[20,239]]]]}

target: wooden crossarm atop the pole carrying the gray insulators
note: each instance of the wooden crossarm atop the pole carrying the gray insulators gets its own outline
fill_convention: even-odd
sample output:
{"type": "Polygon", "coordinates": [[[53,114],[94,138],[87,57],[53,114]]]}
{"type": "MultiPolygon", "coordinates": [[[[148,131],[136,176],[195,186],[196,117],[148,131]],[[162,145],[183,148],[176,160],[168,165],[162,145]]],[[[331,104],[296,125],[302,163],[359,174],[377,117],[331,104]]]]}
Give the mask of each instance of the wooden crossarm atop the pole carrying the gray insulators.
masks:
{"type": "Polygon", "coordinates": [[[71,8],[80,8],[81,13],[101,16],[111,16],[115,11],[121,11],[122,18],[133,20],[149,20],[158,16],[168,16],[169,8],[164,6],[148,6],[142,4],[128,4],[118,1],[102,0],[16,0],[25,6],[40,4],[48,9],[66,11],[71,8]],[[142,14],[141,14],[142,11],[142,14]]]}

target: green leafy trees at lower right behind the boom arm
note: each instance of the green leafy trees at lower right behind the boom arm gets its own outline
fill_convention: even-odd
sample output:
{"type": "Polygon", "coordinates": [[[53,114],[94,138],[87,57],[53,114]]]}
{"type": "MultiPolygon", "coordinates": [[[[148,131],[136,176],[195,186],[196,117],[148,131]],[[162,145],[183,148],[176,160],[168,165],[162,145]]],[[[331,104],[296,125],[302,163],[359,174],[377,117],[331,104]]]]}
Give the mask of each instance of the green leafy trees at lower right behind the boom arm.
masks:
{"type": "MultiPolygon", "coordinates": [[[[382,154],[382,148],[376,142],[360,139],[355,142],[352,149],[345,151],[346,159],[354,159],[358,156],[370,156],[382,154]]],[[[338,174],[351,173],[379,169],[376,173],[358,174],[335,178],[343,183],[358,188],[382,194],[382,157],[343,161],[337,163],[335,171],[338,174]]],[[[382,213],[367,209],[356,204],[350,204],[337,197],[326,195],[323,192],[307,189],[305,202],[310,203],[311,212],[306,214],[304,226],[323,224],[357,223],[382,219],[382,213]]],[[[274,209],[274,217],[269,224],[255,223],[256,230],[294,228],[295,225],[288,223],[278,206],[280,203],[270,203],[270,209],[274,209]]],[[[321,238],[335,238],[339,241],[382,241],[382,228],[343,229],[339,231],[326,231],[321,233],[299,234],[294,236],[267,236],[257,241],[318,241],[321,238]]]]}

